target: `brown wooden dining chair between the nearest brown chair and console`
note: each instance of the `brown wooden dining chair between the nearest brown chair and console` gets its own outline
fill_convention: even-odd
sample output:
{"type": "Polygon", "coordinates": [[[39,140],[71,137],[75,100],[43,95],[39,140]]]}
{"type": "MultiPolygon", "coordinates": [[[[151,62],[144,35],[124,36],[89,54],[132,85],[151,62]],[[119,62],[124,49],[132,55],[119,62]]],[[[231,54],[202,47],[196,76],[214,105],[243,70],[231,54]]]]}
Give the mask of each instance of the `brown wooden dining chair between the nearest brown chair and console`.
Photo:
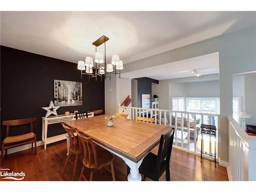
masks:
{"type": "Polygon", "coordinates": [[[65,165],[64,165],[64,169],[63,169],[63,174],[65,174],[65,170],[67,168],[68,163],[70,162],[71,164],[74,165],[74,170],[73,170],[73,175],[72,175],[72,180],[74,180],[75,177],[75,173],[76,173],[76,167],[77,167],[77,162],[78,162],[78,157],[79,154],[82,153],[82,146],[79,142],[79,140],[77,139],[77,137],[75,136],[75,130],[72,128],[69,128],[68,126],[66,126],[65,124],[61,123],[63,129],[66,130],[66,132],[69,135],[69,139],[70,139],[70,148],[69,148],[69,155],[66,159],[65,165]],[[75,162],[71,161],[71,155],[75,155],[75,162]]]}

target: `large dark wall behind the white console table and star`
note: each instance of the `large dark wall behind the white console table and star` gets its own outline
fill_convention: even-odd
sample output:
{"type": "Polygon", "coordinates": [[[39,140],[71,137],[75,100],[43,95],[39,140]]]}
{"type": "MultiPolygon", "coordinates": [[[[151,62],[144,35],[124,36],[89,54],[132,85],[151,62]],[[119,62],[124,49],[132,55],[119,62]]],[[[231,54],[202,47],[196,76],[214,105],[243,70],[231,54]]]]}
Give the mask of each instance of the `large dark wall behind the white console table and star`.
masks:
{"type": "MultiPolygon", "coordinates": [[[[36,117],[34,133],[37,141],[41,140],[42,117],[46,111],[42,106],[49,106],[54,100],[54,79],[82,82],[82,106],[62,106],[57,113],[75,110],[104,111],[104,79],[88,80],[80,78],[77,64],[42,56],[26,51],[1,46],[1,142],[6,135],[4,120],[36,117]]],[[[12,127],[11,127],[12,128],[12,127]]],[[[11,135],[23,134],[29,127],[13,127],[11,135]]],[[[48,137],[65,133],[61,125],[48,125],[48,137]]]]}

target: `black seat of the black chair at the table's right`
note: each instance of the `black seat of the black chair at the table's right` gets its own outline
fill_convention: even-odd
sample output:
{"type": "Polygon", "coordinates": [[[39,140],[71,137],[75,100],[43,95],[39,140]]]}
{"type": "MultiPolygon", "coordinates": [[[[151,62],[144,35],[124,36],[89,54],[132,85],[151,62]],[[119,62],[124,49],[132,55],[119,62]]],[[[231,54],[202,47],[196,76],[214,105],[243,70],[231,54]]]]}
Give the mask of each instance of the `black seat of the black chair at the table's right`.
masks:
{"type": "MultiPolygon", "coordinates": [[[[152,166],[152,165],[155,165],[156,162],[157,162],[157,155],[153,153],[147,154],[139,167],[139,172],[151,179],[154,178],[155,166],[152,166]]],[[[162,173],[165,171],[165,166],[166,166],[166,163],[164,160],[160,166],[160,175],[162,175],[162,173]]]]}

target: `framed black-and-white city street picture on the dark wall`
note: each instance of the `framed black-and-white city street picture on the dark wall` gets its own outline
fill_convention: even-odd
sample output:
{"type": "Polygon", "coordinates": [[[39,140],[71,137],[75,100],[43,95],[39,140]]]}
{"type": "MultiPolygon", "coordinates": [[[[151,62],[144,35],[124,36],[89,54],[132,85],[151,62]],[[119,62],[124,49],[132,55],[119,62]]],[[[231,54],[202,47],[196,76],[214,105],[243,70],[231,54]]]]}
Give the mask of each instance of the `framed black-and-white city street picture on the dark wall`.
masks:
{"type": "Polygon", "coordinates": [[[54,105],[82,105],[82,83],[75,81],[54,80],[54,105]]]}

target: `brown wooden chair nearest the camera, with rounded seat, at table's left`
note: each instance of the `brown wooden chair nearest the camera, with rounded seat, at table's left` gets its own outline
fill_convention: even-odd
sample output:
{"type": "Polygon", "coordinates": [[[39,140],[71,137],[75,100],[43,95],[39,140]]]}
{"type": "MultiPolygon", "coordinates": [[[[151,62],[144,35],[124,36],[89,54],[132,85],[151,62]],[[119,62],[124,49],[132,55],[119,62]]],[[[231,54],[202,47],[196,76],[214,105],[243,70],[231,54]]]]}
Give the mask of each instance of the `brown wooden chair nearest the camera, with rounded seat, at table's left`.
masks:
{"type": "Polygon", "coordinates": [[[83,166],[80,173],[79,181],[81,181],[82,178],[87,181],[86,176],[84,176],[83,174],[85,168],[91,171],[90,181],[93,180],[94,172],[101,168],[105,168],[106,170],[108,170],[112,174],[113,181],[115,181],[116,179],[113,164],[114,155],[109,151],[104,150],[103,148],[98,148],[98,150],[96,151],[94,142],[91,138],[82,136],[77,130],[76,133],[83,147],[83,166]],[[111,166],[111,170],[108,167],[109,165],[111,166]]]}

